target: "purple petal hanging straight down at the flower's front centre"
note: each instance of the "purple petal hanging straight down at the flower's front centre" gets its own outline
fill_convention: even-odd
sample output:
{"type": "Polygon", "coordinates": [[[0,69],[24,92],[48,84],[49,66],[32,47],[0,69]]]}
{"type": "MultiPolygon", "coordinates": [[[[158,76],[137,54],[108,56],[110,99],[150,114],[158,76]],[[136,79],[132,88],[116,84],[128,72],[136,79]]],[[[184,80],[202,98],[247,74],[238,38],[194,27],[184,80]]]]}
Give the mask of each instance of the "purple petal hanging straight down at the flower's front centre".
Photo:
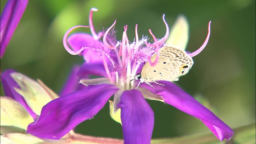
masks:
{"type": "Polygon", "coordinates": [[[126,90],[118,104],[121,108],[124,144],[150,144],[154,112],[138,90],[126,90]]]}

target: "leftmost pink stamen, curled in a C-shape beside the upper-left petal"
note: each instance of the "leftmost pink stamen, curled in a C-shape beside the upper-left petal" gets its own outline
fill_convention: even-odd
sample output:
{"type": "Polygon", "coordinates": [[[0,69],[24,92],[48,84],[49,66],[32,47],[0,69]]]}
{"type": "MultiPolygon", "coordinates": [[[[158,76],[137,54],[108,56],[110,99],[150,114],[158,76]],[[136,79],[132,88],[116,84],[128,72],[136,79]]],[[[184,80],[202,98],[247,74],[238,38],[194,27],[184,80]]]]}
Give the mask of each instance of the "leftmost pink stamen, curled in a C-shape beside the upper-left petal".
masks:
{"type": "Polygon", "coordinates": [[[82,47],[80,50],[78,50],[77,52],[72,50],[69,46],[68,46],[68,43],[67,43],[67,38],[68,38],[68,34],[70,34],[70,32],[72,30],[74,30],[75,28],[80,28],[80,27],[84,27],[84,28],[88,28],[90,26],[74,26],[72,28],[70,28],[65,34],[64,34],[64,37],[63,37],[63,45],[64,45],[64,48],[66,49],[66,51],[68,51],[68,53],[72,54],[72,55],[78,55],[80,54],[85,48],[82,47]]]}

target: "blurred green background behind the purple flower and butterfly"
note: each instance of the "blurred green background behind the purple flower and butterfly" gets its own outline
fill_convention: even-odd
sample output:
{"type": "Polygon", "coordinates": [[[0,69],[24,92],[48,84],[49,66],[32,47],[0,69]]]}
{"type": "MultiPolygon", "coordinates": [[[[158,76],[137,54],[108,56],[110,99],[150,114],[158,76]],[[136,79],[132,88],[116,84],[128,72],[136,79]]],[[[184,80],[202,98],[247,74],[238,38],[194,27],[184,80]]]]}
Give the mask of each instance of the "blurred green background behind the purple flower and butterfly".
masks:
{"type": "MultiPolygon", "coordinates": [[[[1,0],[1,12],[6,4],[1,0]]],[[[177,84],[208,106],[231,128],[255,122],[255,0],[30,0],[6,53],[2,72],[15,69],[30,78],[41,79],[59,93],[72,66],[83,59],[66,52],[64,33],[75,25],[89,25],[90,8],[96,31],[108,28],[116,19],[117,38],[128,24],[128,38],[165,34],[162,14],[169,27],[179,14],[190,26],[187,50],[193,52],[204,42],[208,22],[211,36],[190,72],[177,84]]],[[[90,33],[89,28],[78,31],[90,33]]],[[[4,92],[1,87],[1,96],[4,92]]],[[[202,122],[176,108],[148,101],[155,114],[153,138],[209,132],[202,122]]],[[[92,120],[79,124],[76,132],[91,136],[122,138],[122,127],[109,115],[109,104],[92,120]]]]}

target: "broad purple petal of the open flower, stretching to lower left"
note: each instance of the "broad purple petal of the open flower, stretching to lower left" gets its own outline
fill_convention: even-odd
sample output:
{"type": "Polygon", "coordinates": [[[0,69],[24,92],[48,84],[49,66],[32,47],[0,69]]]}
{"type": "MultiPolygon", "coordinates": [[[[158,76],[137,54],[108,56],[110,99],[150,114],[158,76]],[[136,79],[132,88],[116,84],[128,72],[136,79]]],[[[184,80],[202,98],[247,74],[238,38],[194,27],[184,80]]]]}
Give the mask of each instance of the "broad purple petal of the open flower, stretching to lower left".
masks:
{"type": "Polygon", "coordinates": [[[46,104],[27,133],[39,138],[59,140],[84,120],[93,118],[118,90],[111,84],[88,86],[46,104]]]}

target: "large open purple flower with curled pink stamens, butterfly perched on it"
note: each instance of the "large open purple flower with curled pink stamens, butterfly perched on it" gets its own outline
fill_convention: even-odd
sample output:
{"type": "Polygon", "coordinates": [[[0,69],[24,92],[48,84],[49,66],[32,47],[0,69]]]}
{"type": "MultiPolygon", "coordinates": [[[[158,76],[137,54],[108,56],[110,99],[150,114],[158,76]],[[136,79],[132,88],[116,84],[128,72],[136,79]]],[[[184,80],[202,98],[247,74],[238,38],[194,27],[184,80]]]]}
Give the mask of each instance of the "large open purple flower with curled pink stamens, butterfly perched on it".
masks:
{"type": "MultiPolygon", "coordinates": [[[[39,138],[60,139],[80,122],[93,118],[114,94],[114,112],[121,111],[124,143],[150,143],[154,112],[145,98],[160,100],[199,118],[219,140],[230,140],[234,133],[232,129],[172,82],[161,80],[158,81],[159,84],[151,83],[154,88],[142,83],[136,89],[139,81],[133,79],[137,73],[141,72],[143,63],[150,60],[155,52],[159,57],[159,50],[168,45],[164,43],[169,35],[164,15],[166,34],[163,38],[156,39],[149,30],[154,43],[148,43],[147,37],[139,40],[136,25],[136,37],[134,42],[130,42],[126,35],[127,25],[124,26],[122,41],[115,39],[115,32],[111,29],[116,21],[106,32],[96,34],[92,24],[93,11],[97,9],[92,8],[90,11],[89,22],[92,35],[78,33],[68,37],[74,28],[89,27],[75,26],[66,32],[63,42],[70,54],[79,54],[86,61],[78,71],[78,76],[96,75],[103,78],[82,79],[80,82],[86,85],[86,88],[46,104],[38,120],[28,126],[27,133],[39,138]]],[[[209,37],[210,22],[204,44],[189,56],[199,54],[206,46],[209,37]]],[[[150,61],[151,66],[156,64],[158,57],[155,62],[150,61]]]]}

